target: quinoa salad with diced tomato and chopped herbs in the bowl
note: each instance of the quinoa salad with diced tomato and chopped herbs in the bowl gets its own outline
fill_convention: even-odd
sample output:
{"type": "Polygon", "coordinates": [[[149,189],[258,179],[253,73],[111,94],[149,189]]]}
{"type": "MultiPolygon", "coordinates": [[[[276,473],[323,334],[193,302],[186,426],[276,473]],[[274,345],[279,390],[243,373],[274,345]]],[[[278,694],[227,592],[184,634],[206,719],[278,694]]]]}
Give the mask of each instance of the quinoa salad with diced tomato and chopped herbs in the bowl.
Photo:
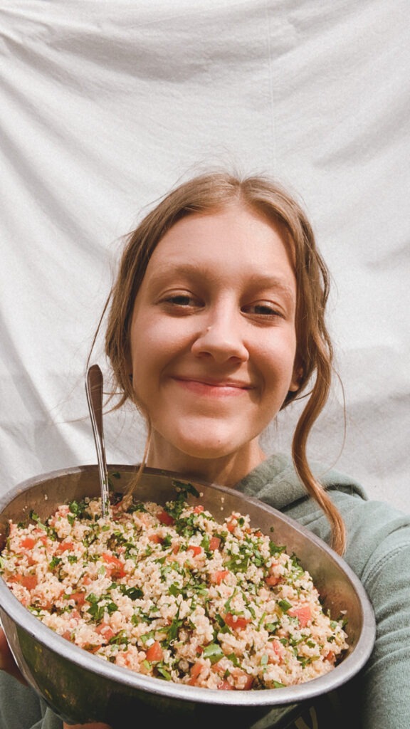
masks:
{"type": "Polygon", "coordinates": [[[344,620],[323,612],[295,555],[238,512],[217,523],[186,491],[160,506],[100,499],[10,521],[0,572],[39,620],[117,666],[211,689],[263,689],[330,671],[344,620]]]}

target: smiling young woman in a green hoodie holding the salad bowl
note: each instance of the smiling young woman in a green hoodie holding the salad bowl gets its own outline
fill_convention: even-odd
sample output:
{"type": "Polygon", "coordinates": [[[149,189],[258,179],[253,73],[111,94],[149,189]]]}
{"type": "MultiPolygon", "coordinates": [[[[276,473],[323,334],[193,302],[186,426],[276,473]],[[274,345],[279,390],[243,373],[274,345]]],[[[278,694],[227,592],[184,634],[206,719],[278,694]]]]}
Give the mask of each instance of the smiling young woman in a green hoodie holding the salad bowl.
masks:
{"type": "MultiPolygon", "coordinates": [[[[327,297],[312,228],[285,190],[258,177],[199,176],[163,198],[128,237],[109,298],[106,352],[118,407],[131,400],[147,423],[145,464],[285,510],[343,554],[368,592],[377,622],[368,664],[338,695],[301,707],[280,726],[405,729],[409,517],[368,501],[337,472],[320,480],[306,458],[330,389],[327,297]],[[291,457],[267,458],[260,435],[301,395],[291,457]]],[[[28,687],[4,674],[6,690],[15,701],[26,692],[26,703],[19,723],[4,714],[1,727],[61,727],[28,687]]]]}

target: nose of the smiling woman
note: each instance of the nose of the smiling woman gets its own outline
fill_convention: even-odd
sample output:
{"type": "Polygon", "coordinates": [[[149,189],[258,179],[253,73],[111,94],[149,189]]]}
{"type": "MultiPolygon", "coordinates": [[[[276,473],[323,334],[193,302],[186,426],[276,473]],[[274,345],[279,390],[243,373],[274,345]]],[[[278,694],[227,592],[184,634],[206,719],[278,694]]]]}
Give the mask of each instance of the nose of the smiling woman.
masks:
{"type": "Polygon", "coordinates": [[[204,321],[204,326],[191,348],[196,356],[212,356],[215,362],[223,364],[229,359],[247,362],[249,351],[244,342],[240,313],[217,313],[204,321]]]}

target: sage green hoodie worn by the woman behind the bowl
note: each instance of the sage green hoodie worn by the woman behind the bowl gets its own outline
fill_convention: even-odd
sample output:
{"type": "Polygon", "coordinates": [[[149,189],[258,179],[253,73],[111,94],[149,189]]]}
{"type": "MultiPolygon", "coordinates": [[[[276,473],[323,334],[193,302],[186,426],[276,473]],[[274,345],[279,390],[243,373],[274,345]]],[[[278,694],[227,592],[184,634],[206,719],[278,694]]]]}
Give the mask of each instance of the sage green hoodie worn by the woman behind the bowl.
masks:
{"type": "MultiPolygon", "coordinates": [[[[376,642],[360,674],[337,692],[303,706],[274,709],[252,729],[410,729],[410,516],[368,500],[363,488],[334,470],[313,467],[347,527],[344,559],[362,582],[376,617],[376,642]]],[[[286,456],[271,456],[236,485],[330,542],[328,520],[303,488],[286,456]]],[[[170,720],[170,717],[168,717],[170,720]]],[[[125,726],[163,719],[141,714],[125,726]]],[[[209,727],[198,717],[196,727],[209,727]]],[[[215,729],[218,729],[212,720],[215,729]]],[[[233,727],[244,726],[232,717],[233,727]]],[[[226,721],[221,721],[225,729],[226,721]]],[[[0,671],[0,729],[61,729],[62,722],[30,688],[0,671]]]]}

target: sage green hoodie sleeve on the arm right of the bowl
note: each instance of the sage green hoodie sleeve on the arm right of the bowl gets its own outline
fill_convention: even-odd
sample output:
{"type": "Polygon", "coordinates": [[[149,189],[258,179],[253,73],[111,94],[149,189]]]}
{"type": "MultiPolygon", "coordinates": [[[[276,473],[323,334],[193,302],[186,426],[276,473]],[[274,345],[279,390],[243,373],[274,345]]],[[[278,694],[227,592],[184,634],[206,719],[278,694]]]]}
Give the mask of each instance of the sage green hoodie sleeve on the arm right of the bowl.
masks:
{"type": "MultiPolygon", "coordinates": [[[[368,511],[363,531],[372,552],[366,550],[360,579],[374,607],[376,642],[357,680],[361,725],[409,729],[410,519],[391,518],[386,504],[374,503],[368,511]]],[[[362,539],[357,539],[356,550],[362,539]]]]}

